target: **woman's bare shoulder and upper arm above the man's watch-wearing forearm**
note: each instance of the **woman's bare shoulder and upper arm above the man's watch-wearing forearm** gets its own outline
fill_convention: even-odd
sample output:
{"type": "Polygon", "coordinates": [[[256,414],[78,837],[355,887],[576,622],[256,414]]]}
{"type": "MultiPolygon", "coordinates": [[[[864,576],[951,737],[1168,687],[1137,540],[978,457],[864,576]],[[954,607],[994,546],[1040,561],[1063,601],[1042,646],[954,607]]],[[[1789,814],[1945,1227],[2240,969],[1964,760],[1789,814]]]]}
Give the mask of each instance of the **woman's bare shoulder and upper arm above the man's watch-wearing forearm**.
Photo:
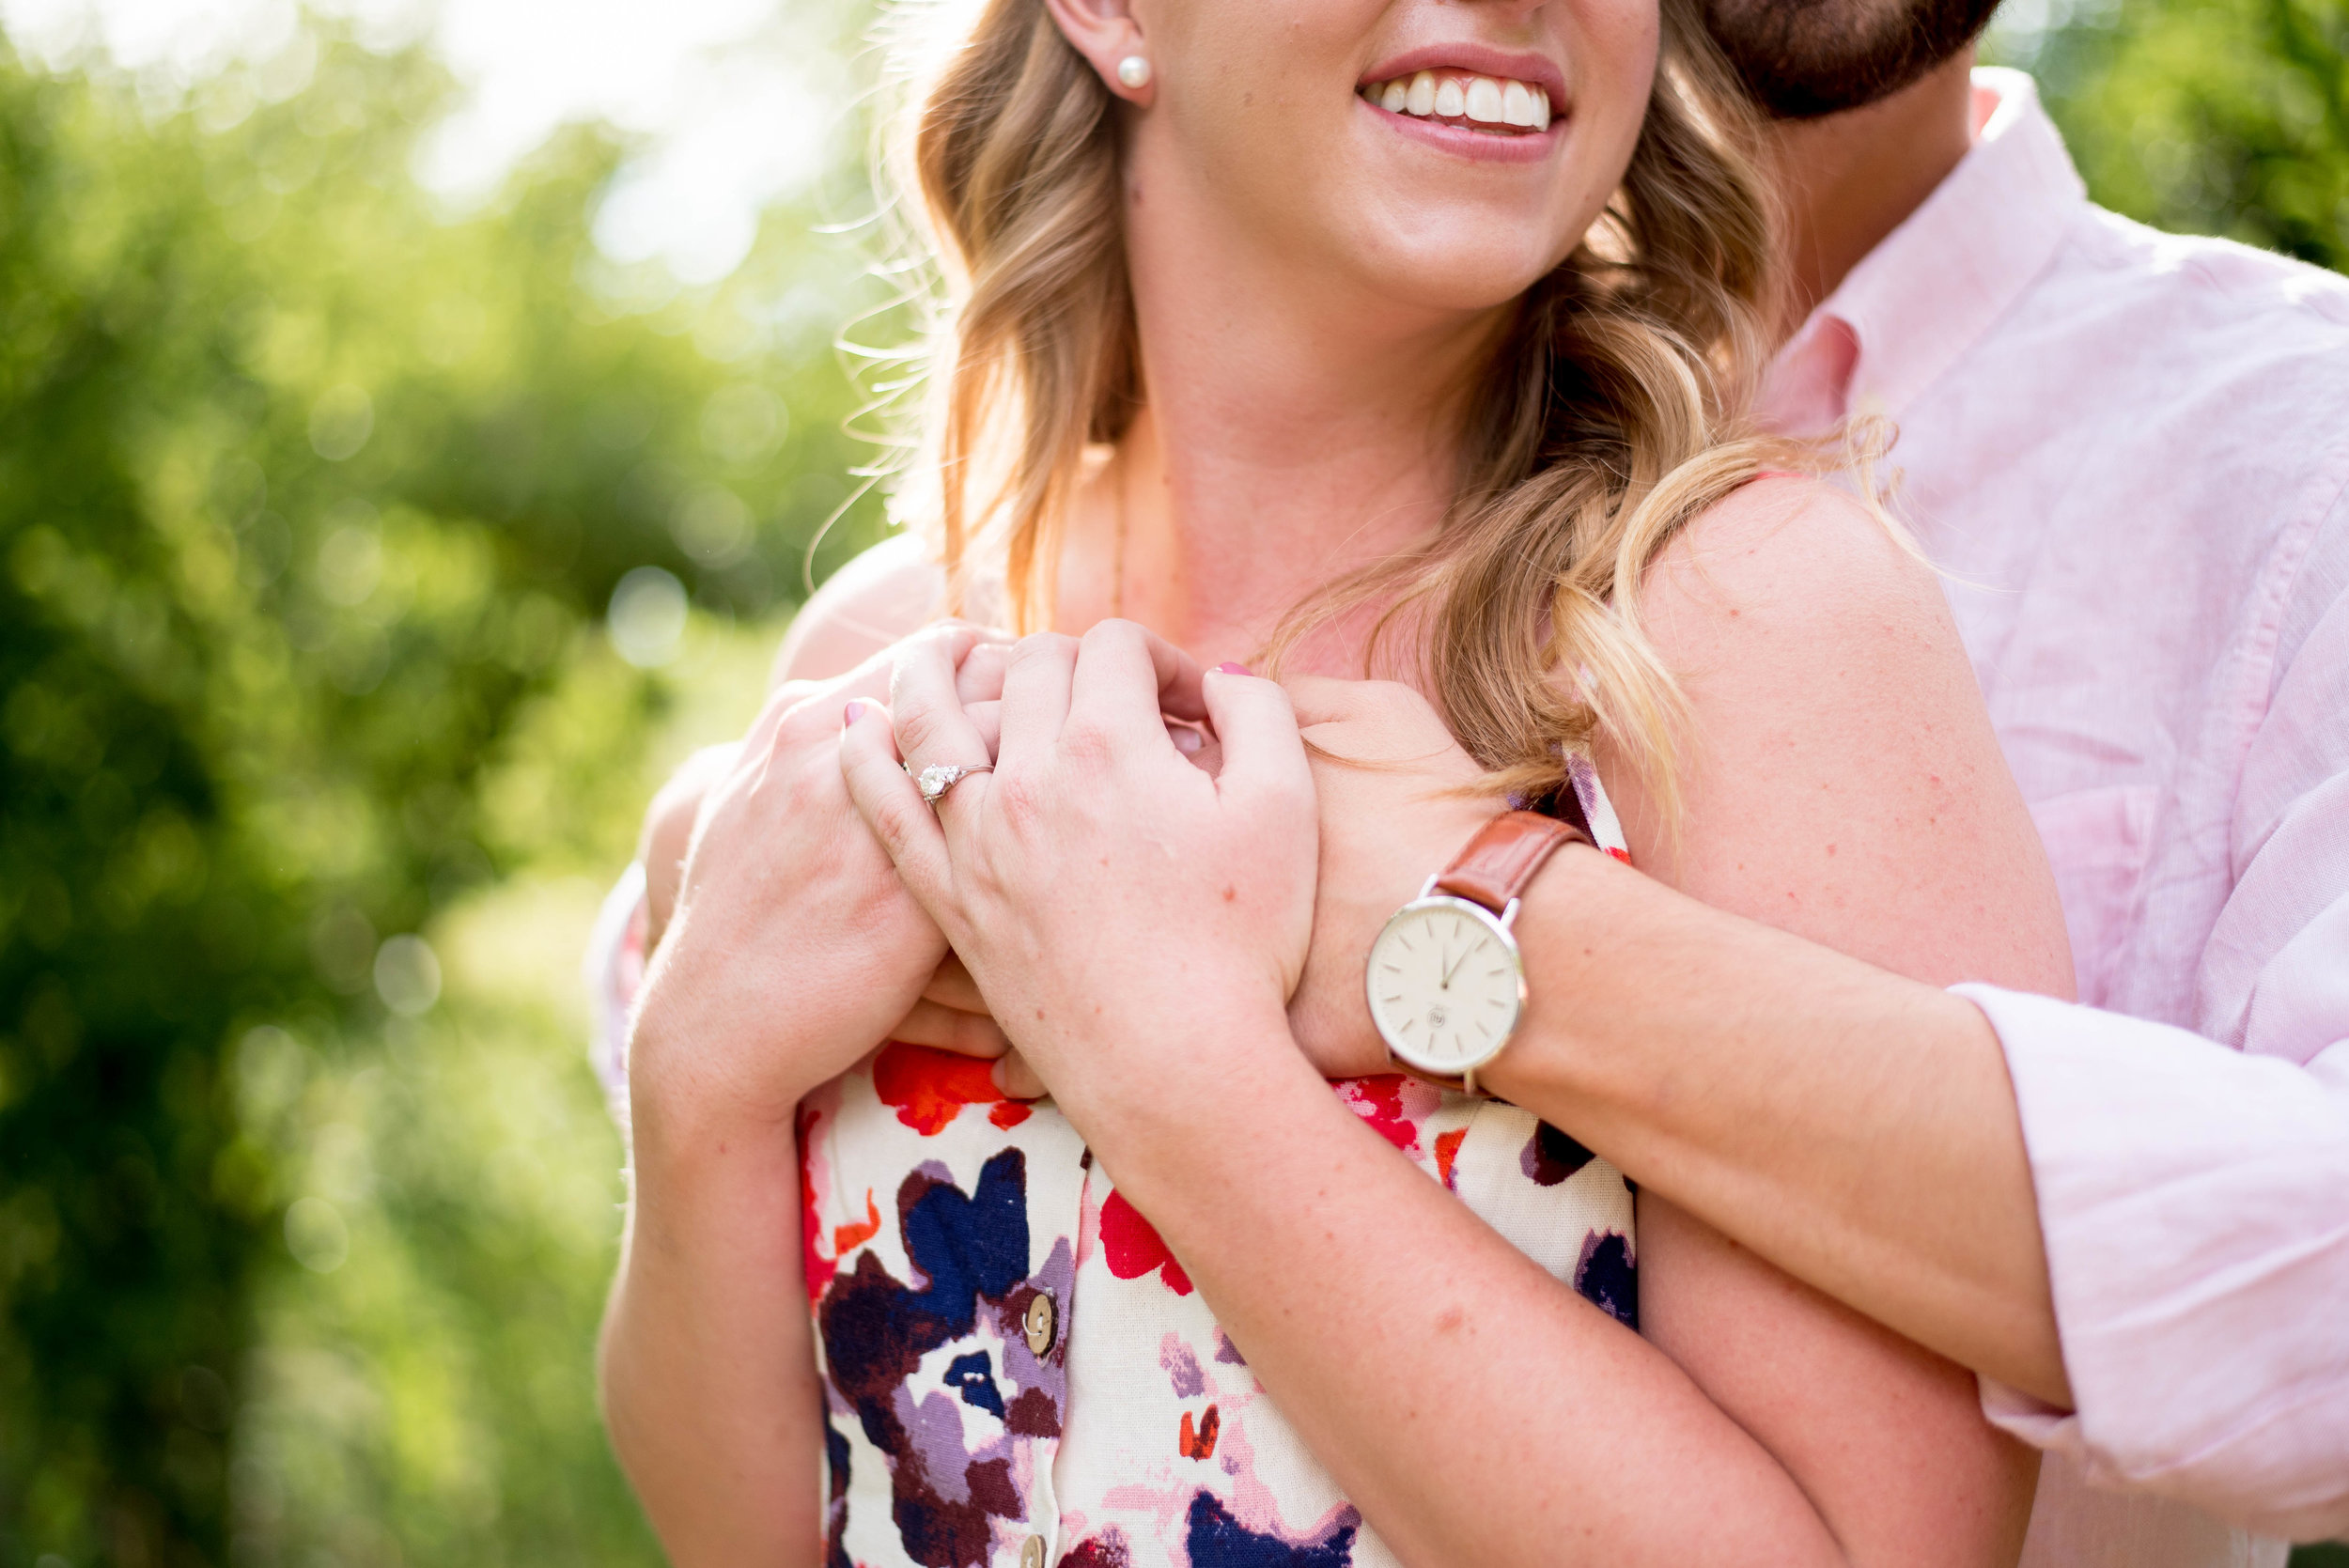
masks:
{"type": "Polygon", "coordinates": [[[1677,822],[1602,749],[1635,861],[1914,979],[2069,988],[1940,580],[1875,514],[1825,484],[1743,486],[1658,556],[1640,610],[1689,728],[1677,822]]]}

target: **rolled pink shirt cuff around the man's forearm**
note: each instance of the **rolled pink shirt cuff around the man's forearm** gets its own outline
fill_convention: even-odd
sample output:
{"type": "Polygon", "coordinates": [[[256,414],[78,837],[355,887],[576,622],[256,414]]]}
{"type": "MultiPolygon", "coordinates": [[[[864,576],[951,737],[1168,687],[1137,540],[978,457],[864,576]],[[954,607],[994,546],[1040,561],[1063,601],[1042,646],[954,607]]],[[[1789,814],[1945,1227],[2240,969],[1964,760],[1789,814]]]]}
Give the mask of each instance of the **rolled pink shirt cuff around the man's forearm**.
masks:
{"type": "Polygon", "coordinates": [[[2077,1401],[1983,1380],[1985,1418],[2100,1486],[2349,1530],[2349,1106],[2166,1023],[1952,993],[2006,1054],[2077,1401]]]}

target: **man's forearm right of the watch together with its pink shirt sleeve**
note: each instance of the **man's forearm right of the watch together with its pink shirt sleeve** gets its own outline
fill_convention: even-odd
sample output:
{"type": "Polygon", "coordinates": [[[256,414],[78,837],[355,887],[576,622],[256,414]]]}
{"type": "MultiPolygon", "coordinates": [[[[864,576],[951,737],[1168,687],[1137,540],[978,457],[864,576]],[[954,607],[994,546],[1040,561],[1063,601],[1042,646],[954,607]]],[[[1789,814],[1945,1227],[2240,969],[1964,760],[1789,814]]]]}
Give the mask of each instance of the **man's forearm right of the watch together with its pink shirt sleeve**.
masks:
{"type": "Polygon", "coordinates": [[[2300,624],[2199,1033],[1938,993],[1579,876],[1520,915],[1534,1019],[1499,1091],[1973,1366],[2091,1476],[2349,1530],[2349,601],[2300,624]]]}

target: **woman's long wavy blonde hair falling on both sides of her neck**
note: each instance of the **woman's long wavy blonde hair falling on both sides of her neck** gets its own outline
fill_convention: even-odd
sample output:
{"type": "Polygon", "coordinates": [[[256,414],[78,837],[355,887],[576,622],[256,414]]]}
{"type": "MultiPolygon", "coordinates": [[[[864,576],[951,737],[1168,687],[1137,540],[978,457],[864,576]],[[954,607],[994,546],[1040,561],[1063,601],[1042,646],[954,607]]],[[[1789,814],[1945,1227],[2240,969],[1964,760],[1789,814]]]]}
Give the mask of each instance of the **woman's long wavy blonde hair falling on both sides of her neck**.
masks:
{"type": "MultiPolygon", "coordinates": [[[[1015,631],[1050,622],[1088,453],[1142,406],[1125,268],[1118,99],[1043,0],[900,0],[909,113],[888,171],[928,261],[928,406],[904,446],[904,521],[926,528],[956,613],[1001,575],[1015,631]],[[928,54],[926,61],[916,59],[928,54]]],[[[1745,425],[1776,303],[1755,120],[1698,0],[1661,0],[1661,61],[1630,169],[1583,244],[1515,307],[1475,390],[1433,538],[1297,606],[1278,664],[1377,606],[1369,660],[1409,660],[1487,784],[1527,798],[1604,732],[1670,815],[1682,699],[1640,629],[1637,582],[1705,507],[1788,444],[1745,425]]],[[[904,385],[904,383],[900,383],[904,385]]],[[[1809,453],[1809,448],[1802,448],[1809,453]]]]}

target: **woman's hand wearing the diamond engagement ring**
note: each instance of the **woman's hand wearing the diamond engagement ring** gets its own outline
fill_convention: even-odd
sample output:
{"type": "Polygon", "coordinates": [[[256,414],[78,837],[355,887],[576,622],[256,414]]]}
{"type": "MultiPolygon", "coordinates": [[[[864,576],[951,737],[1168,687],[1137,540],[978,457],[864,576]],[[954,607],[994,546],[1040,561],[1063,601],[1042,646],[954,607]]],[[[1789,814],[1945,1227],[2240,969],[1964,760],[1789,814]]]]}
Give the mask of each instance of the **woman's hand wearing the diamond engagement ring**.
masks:
{"type": "Polygon", "coordinates": [[[862,714],[841,768],[1069,1117],[1085,1129],[1149,1096],[1151,1052],[1278,1026],[1313,927],[1313,775],[1287,692],[1200,676],[1132,622],[1083,643],[1031,636],[1003,681],[996,770],[933,815],[900,756],[914,770],[987,761],[949,655],[902,653],[895,732],[862,714]],[[1163,711],[1212,723],[1219,772],[1177,749],[1163,711]]]}

